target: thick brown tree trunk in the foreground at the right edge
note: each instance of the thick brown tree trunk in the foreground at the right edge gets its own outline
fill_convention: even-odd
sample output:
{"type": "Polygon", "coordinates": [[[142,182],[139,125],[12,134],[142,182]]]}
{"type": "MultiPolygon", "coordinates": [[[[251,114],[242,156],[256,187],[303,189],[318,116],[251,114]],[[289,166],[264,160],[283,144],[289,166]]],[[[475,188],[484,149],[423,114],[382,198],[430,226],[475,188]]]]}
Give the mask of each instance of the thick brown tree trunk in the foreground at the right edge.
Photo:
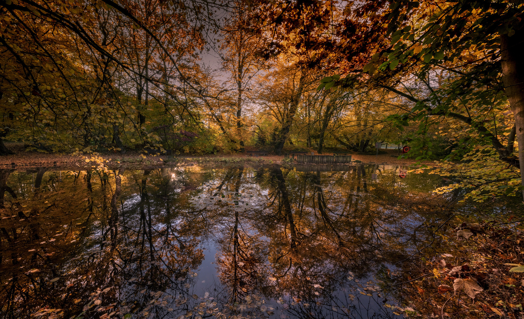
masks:
{"type": "Polygon", "coordinates": [[[500,37],[502,79],[509,104],[515,118],[516,137],[519,144],[519,167],[524,199],[524,30],[520,29],[511,37],[500,37]]]}

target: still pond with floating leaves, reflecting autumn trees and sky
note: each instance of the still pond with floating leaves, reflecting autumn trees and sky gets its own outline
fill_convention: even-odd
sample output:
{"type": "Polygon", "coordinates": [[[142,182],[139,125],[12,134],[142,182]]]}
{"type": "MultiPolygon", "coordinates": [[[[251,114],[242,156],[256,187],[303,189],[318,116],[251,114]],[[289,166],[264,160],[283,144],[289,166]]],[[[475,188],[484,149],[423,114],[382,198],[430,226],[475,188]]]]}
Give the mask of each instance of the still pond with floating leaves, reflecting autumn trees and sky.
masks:
{"type": "Polygon", "coordinates": [[[399,262],[436,225],[515,214],[406,170],[3,170],[0,317],[400,318],[399,262]]]}

